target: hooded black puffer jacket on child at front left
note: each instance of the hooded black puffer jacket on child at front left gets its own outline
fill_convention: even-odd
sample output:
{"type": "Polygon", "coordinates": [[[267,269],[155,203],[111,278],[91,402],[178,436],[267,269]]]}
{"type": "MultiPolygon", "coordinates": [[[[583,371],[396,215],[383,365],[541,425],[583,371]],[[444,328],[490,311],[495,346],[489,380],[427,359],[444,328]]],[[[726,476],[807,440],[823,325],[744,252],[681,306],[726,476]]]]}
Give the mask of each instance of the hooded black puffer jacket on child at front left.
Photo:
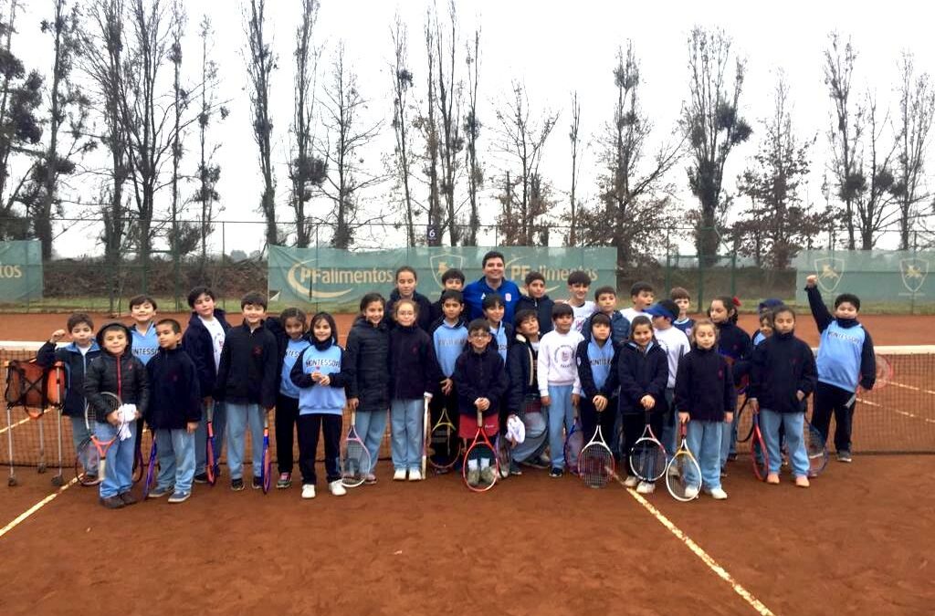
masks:
{"type": "Polygon", "coordinates": [[[123,404],[137,405],[137,411],[145,415],[150,406],[150,380],[146,367],[133,354],[133,337],[130,328],[121,322],[109,322],[97,332],[97,344],[102,351],[88,365],[84,375],[84,396],[91,409],[89,415],[100,423],[107,423],[109,408],[101,396],[103,392],[117,394],[123,404]],[[104,334],[115,326],[126,334],[126,349],[120,356],[112,355],[104,347],[104,334]]]}

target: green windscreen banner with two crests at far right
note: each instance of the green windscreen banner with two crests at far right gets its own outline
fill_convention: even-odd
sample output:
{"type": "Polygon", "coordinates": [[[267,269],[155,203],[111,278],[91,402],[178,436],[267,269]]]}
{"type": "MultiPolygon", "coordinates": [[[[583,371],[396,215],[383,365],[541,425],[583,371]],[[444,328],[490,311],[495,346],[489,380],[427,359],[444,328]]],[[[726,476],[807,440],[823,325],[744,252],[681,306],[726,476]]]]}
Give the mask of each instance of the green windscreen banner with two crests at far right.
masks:
{"type": "Polygon", "coordinates": [[[808,301],[804,288],[810,275],[818,277],[827,296],[853,293],[861,301],[906,304],[935,299],[935,281],[928,276],[935,252],[801,251],[793,265],[798,302],[808,301]]]}

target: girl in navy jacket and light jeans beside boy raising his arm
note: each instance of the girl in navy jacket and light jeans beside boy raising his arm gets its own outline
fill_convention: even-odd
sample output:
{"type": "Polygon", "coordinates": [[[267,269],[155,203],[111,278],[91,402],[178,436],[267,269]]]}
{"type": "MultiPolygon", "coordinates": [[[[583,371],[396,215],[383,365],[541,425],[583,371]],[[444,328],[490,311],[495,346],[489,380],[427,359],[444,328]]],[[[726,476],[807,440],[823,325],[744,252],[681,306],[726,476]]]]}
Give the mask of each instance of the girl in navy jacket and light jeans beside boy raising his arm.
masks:
{"type": "Polygon", "coordinates": [[[817,380],[809,345],[795,335],[796,313],[785,306],[773,308],[773,334],[754,351],[749,402],[759,409],[760,429],[766,441],[770,467],[767,483],[779,483],[782,463],[780,428],[784,430],[796,485],[809,487],[809,458],[802,439],[805,398],[817,380]]]}

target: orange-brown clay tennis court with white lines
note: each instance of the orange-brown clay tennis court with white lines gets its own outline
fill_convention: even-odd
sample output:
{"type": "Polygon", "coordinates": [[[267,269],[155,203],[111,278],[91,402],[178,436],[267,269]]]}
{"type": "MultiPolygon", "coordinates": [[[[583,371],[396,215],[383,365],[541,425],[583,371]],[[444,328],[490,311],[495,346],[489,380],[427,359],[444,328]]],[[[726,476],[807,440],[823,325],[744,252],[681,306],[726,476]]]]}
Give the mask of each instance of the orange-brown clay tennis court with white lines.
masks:
{"type": "MultiPolygon", "coordinates": [[[[41,340],[64,321],[3,315],[0,339],[41,340]]],[[[935,342],[933,317],[861,321],[878,345],[935,342]]],[[[808,315],[798,333],[817,342],[808,315]]],[[[930,434],[935,398],[910,394],[927,416],[893,416],[885,398],[877,410],[930,434]]],[[[657,513],[613,482],[592,490],[527,470],[472,494],[456,475],[393,482],[387,463],[375,486],[336,498],[320,484],[313,501],[297,485],[231,493],[226,470],[181,506],[108,511],[96,490],[73,486],[0,537],[0,613],[930,614],[931,462],[832,460],[800,490],[787,476],[756,481],[741,456],[726,502],[678,503],[660,485],[645,498],[657,513]]],[[[0,524],[52,493],[49,473],[18,474],[21,485],[0,487],[0,524]]]]}

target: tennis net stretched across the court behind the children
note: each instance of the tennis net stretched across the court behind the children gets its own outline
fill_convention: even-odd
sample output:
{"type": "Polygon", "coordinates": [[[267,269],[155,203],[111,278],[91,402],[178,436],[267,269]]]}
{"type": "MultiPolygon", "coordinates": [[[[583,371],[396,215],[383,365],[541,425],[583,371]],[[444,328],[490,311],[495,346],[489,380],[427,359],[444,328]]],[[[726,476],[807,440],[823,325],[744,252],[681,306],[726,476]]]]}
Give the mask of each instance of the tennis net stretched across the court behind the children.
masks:
{"type": "MultiPolygon", "coordinates": [[[[40,343],[0,342],[0,361],[28,361],[36,356],[40,343]]],[[[891,368],[888,382],[856,397],[854,416],[854,451],[856,453],[935,453],[935,346],[877,347],[877,355],[891,368]]],[[[6,391],[7,370],[3,371],[6,391]]],[[[5,409],[6,410],[6,409],[5,409]]],[[[741,421],[749,421],[745,412],[741,421]]],[[[58,413],[51,409],[41,419],[30,419],[22,407],[9,409],[0,421],[0,465],[9,465],[10,451],[15,466],[57,464],[56,425],[58,413]],[[41,430],[40,430],[41,428],[41,430]]],[[[344,413],[344,430],[350,412],[344,413]]],[[[276,459],[276,437],[270,417],[270,448],[276,459]]],[[[73,466],[74,446],[71,423],[62,422],[65,466],[73,466]]],[[[740,432],[744,428],[741,425],[740,432]]],[[[832,422],[831,434],[834,431],[832,422]]],[[[380,457],[389,457],[389,433],[383,438],[380,457]]],[[[830,442],[829,438],[829,442],[830,442]]],[[[144,459],[148,459],[151,438],[143,438],[144,459]]],[[[741,447],[741,449],[744,449],[741,447]]],[[[248,445],[249,450],[249,445],[248,445]]],[[[294,445],[294,459],[298,451],[294,445]]],[[[249,451],[248,451],[249,456],[249,451]]],[[[317,458],[324,459],[324,444],[319,442],[317,458]]],[[[247,458],[249,459],[249,457],[247,458]]]]}

